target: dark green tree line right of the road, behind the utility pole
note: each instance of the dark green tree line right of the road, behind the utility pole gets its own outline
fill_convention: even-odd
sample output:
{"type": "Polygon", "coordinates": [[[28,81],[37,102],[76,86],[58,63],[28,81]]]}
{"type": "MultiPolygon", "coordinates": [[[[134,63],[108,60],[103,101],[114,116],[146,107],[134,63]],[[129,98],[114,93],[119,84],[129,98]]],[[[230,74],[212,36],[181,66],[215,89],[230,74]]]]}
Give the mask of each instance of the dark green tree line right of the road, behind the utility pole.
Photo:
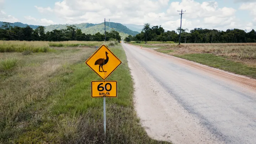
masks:
{"type": "MultiPolygon", "coordinates": [[[[180,28],[177,28],[180,31],[180,28]]],[[[129,35],[124,41],[179,41],[179,34],[176,31],[164,31],[161,26],[153,26],[150,28],[145,23],[143,31],[136,36],[129,35]]],[[[226,31],[208,30],[202,28],[181,29],[181,43],[255,43],[256,32],[251,30],[245,32],[239,29],[228,29],[226,31]]]]}

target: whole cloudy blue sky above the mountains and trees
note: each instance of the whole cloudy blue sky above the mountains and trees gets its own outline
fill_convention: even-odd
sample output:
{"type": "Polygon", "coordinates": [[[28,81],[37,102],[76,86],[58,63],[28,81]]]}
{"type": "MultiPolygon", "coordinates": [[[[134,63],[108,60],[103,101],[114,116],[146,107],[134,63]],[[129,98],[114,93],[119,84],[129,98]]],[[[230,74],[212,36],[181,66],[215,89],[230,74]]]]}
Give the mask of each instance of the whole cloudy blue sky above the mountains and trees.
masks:
{"type": "Polygon", "coordinates": [[[113,22],[183,27],[256,29],[256,0],[0,0],[0,21],[32,25],[113,22]]]}

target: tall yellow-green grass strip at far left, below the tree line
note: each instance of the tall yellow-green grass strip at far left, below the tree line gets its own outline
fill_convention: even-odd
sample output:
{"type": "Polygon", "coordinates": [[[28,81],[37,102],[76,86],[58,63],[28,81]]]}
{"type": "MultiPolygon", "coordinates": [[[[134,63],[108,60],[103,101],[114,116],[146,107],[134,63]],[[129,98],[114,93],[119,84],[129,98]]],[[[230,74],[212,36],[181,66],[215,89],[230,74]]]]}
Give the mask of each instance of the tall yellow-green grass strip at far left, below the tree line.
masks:
{"type": "Polygon", "coordinates": [[[31,46],[28,44],[0,44],[0,52],[24,52],[31,51],[33,53],[38,52],[53,52],[54,49],[50,49],[48,46],[31,46]]]}

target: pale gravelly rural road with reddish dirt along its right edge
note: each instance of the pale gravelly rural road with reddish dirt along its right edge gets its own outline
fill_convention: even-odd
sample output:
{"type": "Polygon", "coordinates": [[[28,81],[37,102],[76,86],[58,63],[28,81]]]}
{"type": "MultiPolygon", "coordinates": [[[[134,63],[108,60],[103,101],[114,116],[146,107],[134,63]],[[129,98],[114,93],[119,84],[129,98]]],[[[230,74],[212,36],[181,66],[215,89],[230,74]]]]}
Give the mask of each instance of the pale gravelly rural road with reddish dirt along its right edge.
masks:
{"type": "Polygon", "coordinates": [[[256,80],[122,44],[150,137],[174,144],[256,144],[256,80]]]}

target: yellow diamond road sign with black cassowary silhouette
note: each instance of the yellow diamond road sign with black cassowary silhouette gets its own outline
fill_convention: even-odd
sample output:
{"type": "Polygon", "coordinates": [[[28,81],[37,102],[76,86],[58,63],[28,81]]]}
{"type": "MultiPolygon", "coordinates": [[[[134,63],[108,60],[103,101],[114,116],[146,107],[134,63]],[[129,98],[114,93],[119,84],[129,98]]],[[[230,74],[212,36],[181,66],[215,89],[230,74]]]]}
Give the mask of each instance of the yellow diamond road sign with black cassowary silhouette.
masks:
{"type": "Polygon", "coordinates": [[[122,62],[103,44],[85,63],[105,80],[122,62]]]}

